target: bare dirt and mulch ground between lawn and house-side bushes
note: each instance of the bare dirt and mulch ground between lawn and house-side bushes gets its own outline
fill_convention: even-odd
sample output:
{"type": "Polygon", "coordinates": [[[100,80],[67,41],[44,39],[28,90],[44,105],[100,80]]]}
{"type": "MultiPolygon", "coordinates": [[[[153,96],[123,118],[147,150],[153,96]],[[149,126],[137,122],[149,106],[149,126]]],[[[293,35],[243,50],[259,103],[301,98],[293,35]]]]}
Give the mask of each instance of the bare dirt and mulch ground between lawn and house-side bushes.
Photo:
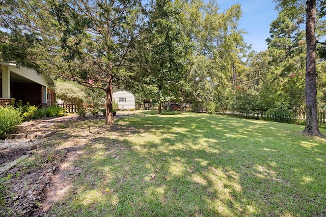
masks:
{"type": "MultiPolygon", "coordinates": [[[[29,155],[0,174],[0,216],[45,216],[51,205],[73,188],[74,177],[83,169],[72,163],[83,154],[83,146],[89,137],[107,131],[104,126],[69,131],[72,121],[83,120],[75,115],[26,122],[22,126],[24,133],[49,129],[58,133],[40,141],[35,150],[17,147],[0,150],[0,167],[29,155]]],[[[26,140],[26,145],[29,142],[26,140]]]]}

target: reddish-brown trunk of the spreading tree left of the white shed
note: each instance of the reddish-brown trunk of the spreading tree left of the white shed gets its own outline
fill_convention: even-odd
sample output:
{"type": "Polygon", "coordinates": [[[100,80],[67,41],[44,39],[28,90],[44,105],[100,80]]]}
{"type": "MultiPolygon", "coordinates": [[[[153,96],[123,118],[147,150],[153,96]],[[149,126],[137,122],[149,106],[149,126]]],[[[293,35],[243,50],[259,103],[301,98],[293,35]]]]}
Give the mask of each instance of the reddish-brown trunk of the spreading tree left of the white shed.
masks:
{"type": "Polygon", "coordinates": [[[106,76],[106,114],[105,114],[105,125],[114,125],[113,120],[113,77],[111,73],[107,73],[106,76]]]}

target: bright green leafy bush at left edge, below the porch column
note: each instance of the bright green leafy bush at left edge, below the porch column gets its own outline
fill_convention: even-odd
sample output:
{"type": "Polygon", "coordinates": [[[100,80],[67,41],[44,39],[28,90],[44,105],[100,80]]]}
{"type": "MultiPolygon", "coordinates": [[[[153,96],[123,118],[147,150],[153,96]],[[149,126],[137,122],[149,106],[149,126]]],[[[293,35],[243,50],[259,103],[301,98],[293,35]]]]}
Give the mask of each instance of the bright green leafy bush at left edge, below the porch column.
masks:
{"type": "Polygon", "coordinates": [[[0,138],[15,133],[22,122],[19,109],[13,106],[0,106],[0,138]]]}

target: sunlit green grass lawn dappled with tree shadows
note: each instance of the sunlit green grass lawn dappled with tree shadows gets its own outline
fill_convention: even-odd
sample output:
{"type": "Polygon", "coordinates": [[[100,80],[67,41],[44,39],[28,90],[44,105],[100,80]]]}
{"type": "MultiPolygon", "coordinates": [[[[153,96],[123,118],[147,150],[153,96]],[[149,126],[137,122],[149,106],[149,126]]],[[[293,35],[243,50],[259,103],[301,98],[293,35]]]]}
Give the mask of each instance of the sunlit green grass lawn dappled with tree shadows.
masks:
{"type": "Polygon", "coordinates": [[[60,145],[85,144],[81,172],[49,216],[326,215],[326,139],[303,126],[171,112],[116,123],[63,127],[60,145]]]}

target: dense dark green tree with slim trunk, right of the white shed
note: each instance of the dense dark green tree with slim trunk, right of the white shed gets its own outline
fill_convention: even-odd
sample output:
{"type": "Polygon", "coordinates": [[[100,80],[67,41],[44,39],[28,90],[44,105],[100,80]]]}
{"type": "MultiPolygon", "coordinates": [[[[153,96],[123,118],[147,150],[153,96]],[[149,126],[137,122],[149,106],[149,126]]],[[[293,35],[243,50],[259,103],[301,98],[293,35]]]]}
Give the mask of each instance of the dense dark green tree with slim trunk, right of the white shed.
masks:
{"type": "Polygon", "coordinates": [[[146,43],[140,46],[138,58],[145,60],[145,67],[140,67],[140,73],[135,76],[141,78],[142,91],[150,92],[154,100],[161,103],[176,100],[183,88],[182,78],[189,65],[191,44],[185,37],[182,29],[181,8],[184,2],[157,0],[152,2],[149,12],[145,36],[146,43]]]}

